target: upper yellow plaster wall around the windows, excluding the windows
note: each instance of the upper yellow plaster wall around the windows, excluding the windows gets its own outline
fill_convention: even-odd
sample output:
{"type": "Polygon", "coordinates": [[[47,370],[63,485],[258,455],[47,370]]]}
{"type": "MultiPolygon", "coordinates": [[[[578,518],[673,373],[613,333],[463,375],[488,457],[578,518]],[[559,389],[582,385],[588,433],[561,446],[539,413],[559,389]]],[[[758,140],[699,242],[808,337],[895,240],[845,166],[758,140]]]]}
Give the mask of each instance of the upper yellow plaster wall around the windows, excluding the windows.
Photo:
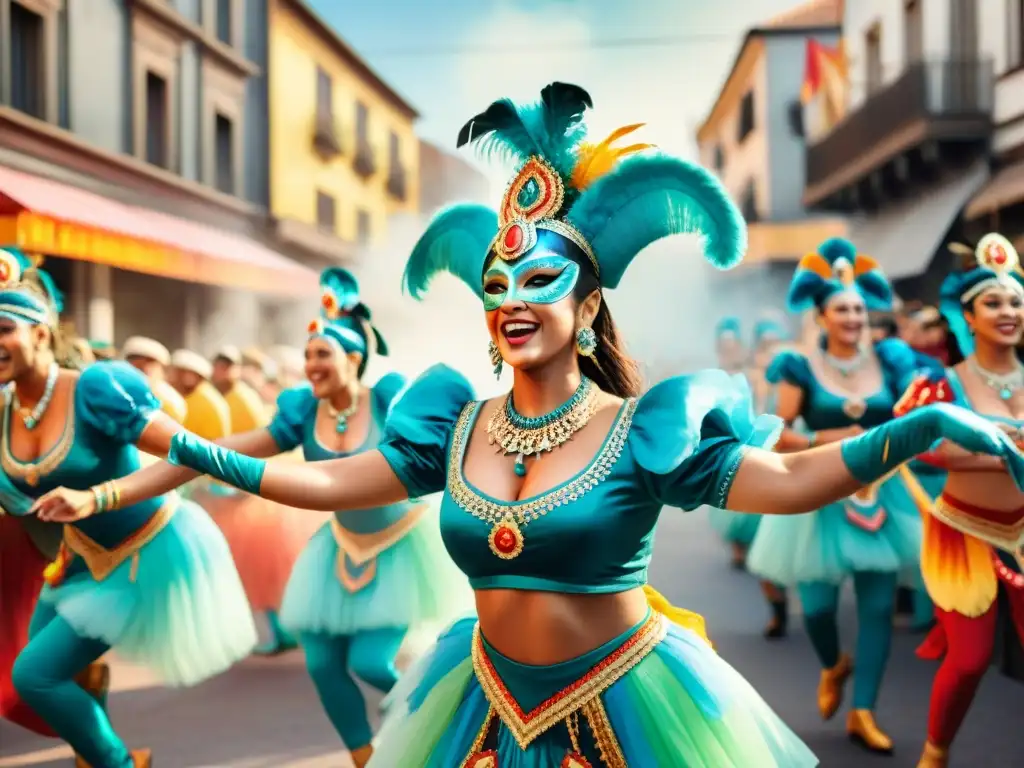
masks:
{"type": "Polygon", "coordinates": [[[372,243],[386,236],[387,216],[419,210],[419,140],[413,123],[342,58],[315,30],[296,14],[288,0],[270,4],[270,209],[278,218],[316,223],[316,191],[336,201],[338,237],[356,239],[356,212],[371,216],[372,243]],[[316,68],[331,74],[334,112],[342,126],[343,152],[325,162],[313,150],[316,119],[316,68]],[[370,143],[376,148],[377,171],[368,179],[352,168],[355,150],[355,103],[369,108],[370,143]],[[407,195],[398,201],[387,193],[388,134],[400,139],[407,195]]]}

